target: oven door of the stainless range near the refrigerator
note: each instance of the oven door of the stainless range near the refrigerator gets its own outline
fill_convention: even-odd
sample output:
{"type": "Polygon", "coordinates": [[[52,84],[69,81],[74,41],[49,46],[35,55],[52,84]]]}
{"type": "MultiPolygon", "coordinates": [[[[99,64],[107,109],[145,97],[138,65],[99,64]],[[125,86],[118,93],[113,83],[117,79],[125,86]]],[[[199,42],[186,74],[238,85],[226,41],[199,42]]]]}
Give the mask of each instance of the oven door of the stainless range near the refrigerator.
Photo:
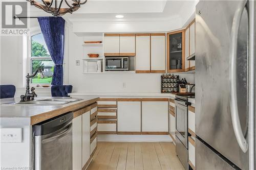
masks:
{"type": "Polygon", "coordinates": [[[184,147],[187,147],[187,102],[175,99],[175,135],[180,139],[184,147]]]}

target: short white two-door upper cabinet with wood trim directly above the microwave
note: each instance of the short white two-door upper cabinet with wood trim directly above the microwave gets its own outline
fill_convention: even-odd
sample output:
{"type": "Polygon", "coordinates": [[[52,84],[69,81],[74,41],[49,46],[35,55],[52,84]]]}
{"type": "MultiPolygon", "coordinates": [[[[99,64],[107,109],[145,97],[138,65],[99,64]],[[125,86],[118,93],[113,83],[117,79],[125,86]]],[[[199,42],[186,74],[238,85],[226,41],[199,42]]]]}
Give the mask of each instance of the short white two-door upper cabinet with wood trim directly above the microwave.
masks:
{"type": "Polygon", "coordinates": [[[135,34],[104,34],[104,56],[135,56],[135,34]]]}

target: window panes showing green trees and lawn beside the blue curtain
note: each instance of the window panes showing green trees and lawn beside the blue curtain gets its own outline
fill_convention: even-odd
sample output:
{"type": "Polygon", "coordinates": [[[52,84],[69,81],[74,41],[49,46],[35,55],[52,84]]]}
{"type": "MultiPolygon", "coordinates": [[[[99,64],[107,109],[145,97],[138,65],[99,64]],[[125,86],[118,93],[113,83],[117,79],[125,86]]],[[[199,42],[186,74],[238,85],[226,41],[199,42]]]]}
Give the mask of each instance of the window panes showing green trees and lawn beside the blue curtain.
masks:
{"type": "Polygon", "coordinates": [[[38,73],[31,79],[31,83],[35,84],[51,84],[54,62],[48,52],[46,42],[41,33],[31,36],[31,74],[41,68],[45,78],[41,78],[38,73]]]}

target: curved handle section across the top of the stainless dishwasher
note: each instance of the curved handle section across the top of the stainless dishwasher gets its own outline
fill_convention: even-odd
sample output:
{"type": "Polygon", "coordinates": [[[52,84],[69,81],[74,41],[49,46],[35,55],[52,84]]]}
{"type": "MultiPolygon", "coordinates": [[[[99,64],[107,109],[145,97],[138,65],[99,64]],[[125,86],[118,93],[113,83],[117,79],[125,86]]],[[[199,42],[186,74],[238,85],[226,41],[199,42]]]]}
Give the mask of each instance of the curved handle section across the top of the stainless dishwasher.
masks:
{"type": "Polygon", "coordinates": [[[48,135],[67,126],[73,119],[73,112],[68,112],[34,125],[34,136],[48,135]]]}

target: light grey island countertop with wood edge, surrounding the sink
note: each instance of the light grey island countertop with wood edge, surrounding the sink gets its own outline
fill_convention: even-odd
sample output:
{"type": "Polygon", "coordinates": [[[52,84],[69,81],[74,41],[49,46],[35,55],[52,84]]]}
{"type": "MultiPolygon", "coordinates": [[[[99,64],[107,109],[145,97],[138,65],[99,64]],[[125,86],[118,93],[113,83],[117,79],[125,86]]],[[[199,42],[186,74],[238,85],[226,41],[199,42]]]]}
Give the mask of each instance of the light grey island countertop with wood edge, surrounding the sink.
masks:
{"type": "MultiPolygon", "coordinates": [[[[41,97],[38,99],[56,99],[52,97],[41,97]]],[[[78,98],[63,98],[78,99],[78,98]]],[[[89,106],[99,100],[96,97],[86,97],[82,100],[71,102],[63,105],[15,105],[9,103],[19,102],[20,98],[1,99],[0,118],[1,126],[27,126],[35,125],[52,117],[76,111],[83,107],[89,106]]]]}

